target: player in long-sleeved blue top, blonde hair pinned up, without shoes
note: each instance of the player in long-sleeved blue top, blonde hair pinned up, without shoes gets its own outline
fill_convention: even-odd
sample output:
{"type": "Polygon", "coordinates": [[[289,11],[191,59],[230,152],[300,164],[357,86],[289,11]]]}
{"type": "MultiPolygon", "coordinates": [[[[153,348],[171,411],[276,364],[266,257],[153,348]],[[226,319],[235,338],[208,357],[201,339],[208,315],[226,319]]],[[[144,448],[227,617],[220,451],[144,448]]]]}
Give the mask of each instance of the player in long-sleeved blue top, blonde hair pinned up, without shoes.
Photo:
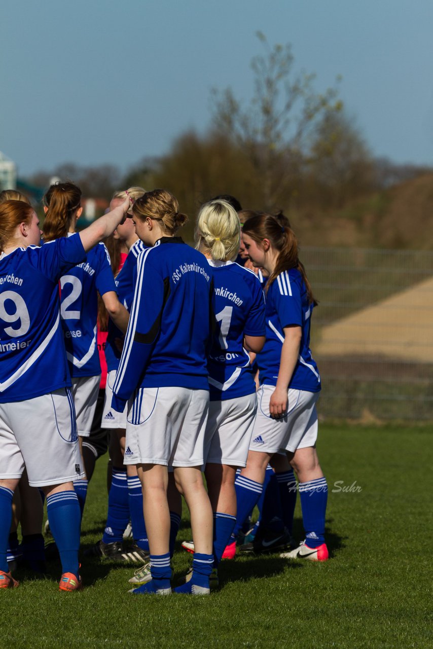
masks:
{"type": "Polygon", "coordinates": [[[125,463],[143,487],[151,581],[132,593],[171,593],[167,466],[190,509],[195,554],[189,583],[176,592],[209,593],[212,508],[201,476],[208,415],[206,348],[212,271],[203,254],[175,236],[187,219],[165,190],[146,192],[132,208],[136,232],[153,246],[138,258],[130,323],[112,408],[127,415],[125,463]]]}

